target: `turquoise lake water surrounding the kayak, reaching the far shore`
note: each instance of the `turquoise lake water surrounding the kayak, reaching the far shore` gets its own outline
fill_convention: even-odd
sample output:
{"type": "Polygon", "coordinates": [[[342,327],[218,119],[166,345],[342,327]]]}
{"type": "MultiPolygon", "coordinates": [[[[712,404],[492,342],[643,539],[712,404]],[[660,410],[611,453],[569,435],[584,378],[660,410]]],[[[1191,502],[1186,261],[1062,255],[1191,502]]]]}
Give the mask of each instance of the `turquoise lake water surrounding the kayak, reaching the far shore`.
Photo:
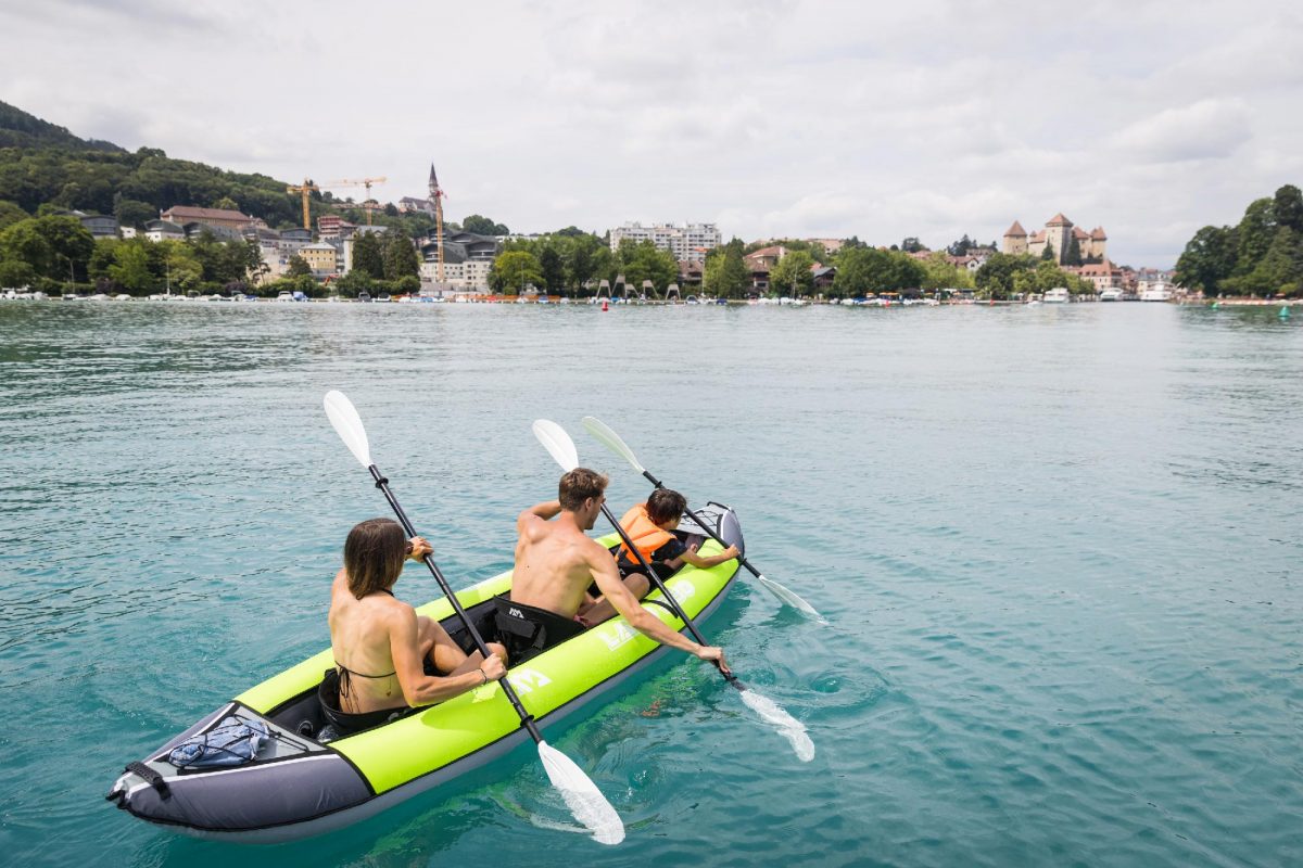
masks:
{"type": "MultiPolygon", "coordinates": [[[[1274,310],[0,305],[0,852],[12,864],[1286,865],[1303,860],[1303,323],[1274,310]],[[461,587],[594,414],[833,622],[739,580],[687,658],[345,832],[171,835],[121,766],[327,643],[373,457],[461,587]]],[[[400,596],[435,595],[409,570],[400,596]]]]}

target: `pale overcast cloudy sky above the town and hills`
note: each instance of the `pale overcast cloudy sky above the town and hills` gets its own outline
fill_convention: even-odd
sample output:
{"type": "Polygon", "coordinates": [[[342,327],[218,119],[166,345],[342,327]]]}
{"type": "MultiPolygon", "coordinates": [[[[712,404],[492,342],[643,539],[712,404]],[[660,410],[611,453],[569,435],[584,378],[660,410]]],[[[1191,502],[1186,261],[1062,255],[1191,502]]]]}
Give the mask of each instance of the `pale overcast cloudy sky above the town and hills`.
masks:
{"type": "Polygon", "coordinates": [[[433,160],[450,217],[519,232],[939,246],[1062,211],[1165,267],[1303,185],[1283,0],[0,0],[0,99],[79,135],[394,200],[433,160]]]}

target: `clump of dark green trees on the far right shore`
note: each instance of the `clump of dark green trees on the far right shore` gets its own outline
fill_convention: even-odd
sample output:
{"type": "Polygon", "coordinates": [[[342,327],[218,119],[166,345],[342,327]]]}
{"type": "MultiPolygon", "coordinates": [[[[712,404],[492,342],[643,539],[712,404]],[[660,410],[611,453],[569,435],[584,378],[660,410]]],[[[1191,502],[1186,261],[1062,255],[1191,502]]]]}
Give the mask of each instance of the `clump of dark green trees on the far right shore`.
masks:
{"type": "Polygon", "coordinates": [[[1286,183],[1251,202],[1234,226],[1196,232],[1175,280],[1204,295],[1303,294],[1303,193],[1286,183]]]}

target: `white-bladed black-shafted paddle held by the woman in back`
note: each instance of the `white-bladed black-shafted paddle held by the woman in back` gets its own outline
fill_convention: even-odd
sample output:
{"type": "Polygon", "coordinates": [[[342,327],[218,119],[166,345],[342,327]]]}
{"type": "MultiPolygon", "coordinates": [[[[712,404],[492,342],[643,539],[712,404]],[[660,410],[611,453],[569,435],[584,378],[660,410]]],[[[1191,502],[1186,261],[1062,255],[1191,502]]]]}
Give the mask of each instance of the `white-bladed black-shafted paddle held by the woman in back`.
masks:
{"type": "MultiPolygon", "coordinates": [[[[341,392],[327,392],[326,393],[326,415],[330,416],[330,423],[335,427],[335,432],[348,446],[348,450],[353,453],[353,457],[366,467],[375,480],[375,487],[384,493],[384,500],[390,502],[390,508],[394,509],[394,514],[397,515],[399,523],[403,524],[404,532],[410,536],[416,536],[416,528],[412,527],[412,522],[408,521],[407,513],[399,505],[397,500],[394,497],[394,492],[390,491],[390,480],[387,480],[380,471],[371,462],[370,446],[366,441],[366,429],[362,427],[362,419],[357,415],[357,410],[353,409],[352,401],[349,401],[341,392]]],[[[425,556],[425,565],[430,567],[430,574],[434,580],[439,583],[439,590],[443,591],[443,596],[448,599],[452,608],[456,610],[457,617],[461,618],[461,623],[465,625],[466,630],[470,632],[472,639],[476,640],[476,648],[483,655],[483,658],[489,658],[489,647],[485,645],[483,638],[480,631],[476,630],[476,625],[470,622],[466,616],[466,610],[461,606],[461,601],[457,600],[457,595],[452,592],[448,586],[448,580],[443,578],[443,573],[439,566],[434,562],[434,557],[430,554],[425,556]]],[[[520,698],[512,688],[511,682],[503,678],[498,682],[502,687],[503,694],[511,701],[512,708],[520,716],[520,725],[524,726],[534,743],[538,744],[538,759],[543,763],[543,769],[547,772],[547,778],[556,787],[562,798],[566,799],[566,804],[569,807],[575,819],[584,824],[592,833],[593,838],[601,843],[620,843],[624,841],[624,822],[620,820],[620,815],[615,812],[611,803],[606,800],[602,793],[597,789],[597,785],[589,780],[584,772],[575,765],[575,763],[558,751],[555,747],[550,746],[543,740],[542,734],[538,731],[538,726],[534,724],[534,717],[525,707],[520,703],[520,698]]]]}

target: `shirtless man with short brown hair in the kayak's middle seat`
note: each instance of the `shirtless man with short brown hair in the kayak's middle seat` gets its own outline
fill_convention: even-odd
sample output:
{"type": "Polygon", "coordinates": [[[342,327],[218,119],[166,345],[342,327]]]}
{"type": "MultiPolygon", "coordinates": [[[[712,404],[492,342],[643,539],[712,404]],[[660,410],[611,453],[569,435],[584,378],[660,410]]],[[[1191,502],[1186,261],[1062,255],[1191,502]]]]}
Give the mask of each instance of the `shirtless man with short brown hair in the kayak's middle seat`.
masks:
{"type": "MultiPolygon", "coordinates": [[[[559,500],[532,506],[516,519],[520,539],[511,600],[500,603],[498,610],[503,640],[508,648],[524,647],[538,653],[582,632],[585,625],[576,622],[576,616],[581,608],[592,606],[588,587],[597,582],[611,608],[635,630],[700,660],[718,661],[730,671],[722,648],[697,644],[638,605],[635,590],[620,580],[611,553],[584,534],[602,513],[606,483],[602,474],[577,467],[562,476],[559,500]],[[537,638],[539,627],[542,640],[537,638]]],[[[645,592],[646,578],[636,576],[636,582],[645,592]]]]}

